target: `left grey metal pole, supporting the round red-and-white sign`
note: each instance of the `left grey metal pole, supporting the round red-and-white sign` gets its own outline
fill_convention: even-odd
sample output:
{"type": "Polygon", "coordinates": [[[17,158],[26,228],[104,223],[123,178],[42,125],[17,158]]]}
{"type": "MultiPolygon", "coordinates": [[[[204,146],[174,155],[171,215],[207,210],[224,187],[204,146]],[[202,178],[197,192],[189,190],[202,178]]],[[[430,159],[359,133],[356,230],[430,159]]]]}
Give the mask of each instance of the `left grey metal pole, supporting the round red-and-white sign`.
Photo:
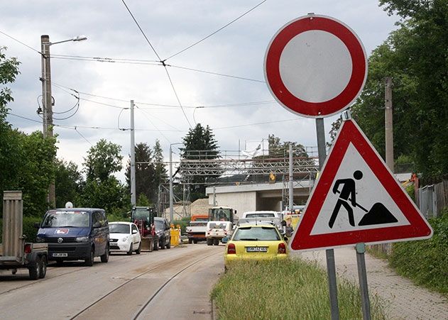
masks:
{"type": "MultiPolygon", "coordinates": [[[[319,170],[322,167],[327,157],[327,150],[325,148],[325,128],[324,118],[316,118],[316,132],[317,132],[317,152],[319,154],[319,170]]],[[[334,265],[334,250],[325,250],[327,255],[327,275],[328,275],[328,289],[330,310],[332,312],[332,320],[339,320],[339,306],[337,304],[337,283],[336,283],[336,266],[334,265]]]]}

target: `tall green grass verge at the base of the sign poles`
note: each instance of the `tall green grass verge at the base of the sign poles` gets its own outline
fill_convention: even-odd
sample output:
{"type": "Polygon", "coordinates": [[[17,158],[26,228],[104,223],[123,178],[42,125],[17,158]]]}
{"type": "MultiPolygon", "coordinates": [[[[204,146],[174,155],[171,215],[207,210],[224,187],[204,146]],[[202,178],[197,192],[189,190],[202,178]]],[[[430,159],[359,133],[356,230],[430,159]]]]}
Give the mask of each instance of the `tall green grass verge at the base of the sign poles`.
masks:
{"type": "MultiPolygon", "coordinates": [[[[234,263],[212,290],[218,319],[331,319],[327,272],[304,260],[234,263]]],[[[341,319],[362,319],[359,289],[338,284],[341,319]]],[[[372,319],[386,319],[376,297],[372,319]]]]}

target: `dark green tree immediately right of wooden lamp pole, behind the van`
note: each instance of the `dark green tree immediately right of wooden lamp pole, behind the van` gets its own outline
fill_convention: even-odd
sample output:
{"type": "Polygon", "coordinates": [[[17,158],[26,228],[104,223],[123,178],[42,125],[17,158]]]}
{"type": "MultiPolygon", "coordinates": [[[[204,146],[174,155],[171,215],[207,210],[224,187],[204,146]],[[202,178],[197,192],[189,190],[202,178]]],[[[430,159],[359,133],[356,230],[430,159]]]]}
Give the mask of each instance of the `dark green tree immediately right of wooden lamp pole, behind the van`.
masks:
{"type": "Polygon", "coordinates": [[[56,160],[55,187],[57,208],[63,208],[65,203],[69,201],[74,206],[79,206],[83,184],[81,172],[78,171],[78,167],[74,162],[56,160]]]}

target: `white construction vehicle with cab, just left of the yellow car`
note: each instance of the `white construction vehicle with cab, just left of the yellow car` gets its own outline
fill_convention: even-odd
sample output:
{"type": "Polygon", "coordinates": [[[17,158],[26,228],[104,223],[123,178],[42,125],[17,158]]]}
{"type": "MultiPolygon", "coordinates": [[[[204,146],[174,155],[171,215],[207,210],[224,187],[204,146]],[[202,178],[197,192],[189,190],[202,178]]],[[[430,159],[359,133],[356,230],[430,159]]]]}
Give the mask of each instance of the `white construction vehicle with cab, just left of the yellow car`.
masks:
{"type": "Polygon", "coordinates": [[[209,209],[209,222],[207,223],[207,245],[219,245],[219,241],[231,236],[234,224],[238,223],[236,210],[229,206],[214,206],[209,209]]]}

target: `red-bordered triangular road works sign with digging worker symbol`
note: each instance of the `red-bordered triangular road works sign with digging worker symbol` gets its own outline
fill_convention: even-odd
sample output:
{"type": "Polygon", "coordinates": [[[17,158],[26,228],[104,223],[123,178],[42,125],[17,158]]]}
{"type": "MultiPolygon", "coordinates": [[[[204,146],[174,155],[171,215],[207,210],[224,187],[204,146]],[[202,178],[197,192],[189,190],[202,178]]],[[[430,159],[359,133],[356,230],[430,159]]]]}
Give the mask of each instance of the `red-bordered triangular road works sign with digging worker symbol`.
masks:
{"type": "Polygon", "coordinates": [[[291,250],[430,238],[432,228],[353,120],[342,123],[291,250]]]}

